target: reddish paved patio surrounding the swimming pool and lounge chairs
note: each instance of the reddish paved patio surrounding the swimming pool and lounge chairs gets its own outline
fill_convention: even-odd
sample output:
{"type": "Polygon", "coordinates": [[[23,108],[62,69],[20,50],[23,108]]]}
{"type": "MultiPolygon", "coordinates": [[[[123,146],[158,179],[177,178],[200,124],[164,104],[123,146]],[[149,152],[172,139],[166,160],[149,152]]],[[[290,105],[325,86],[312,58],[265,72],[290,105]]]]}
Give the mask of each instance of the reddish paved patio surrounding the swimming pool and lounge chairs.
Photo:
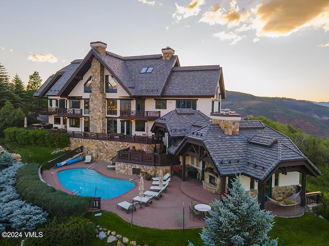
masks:
{"type": "MultiPolygon", "coordinates": [[[[138,196],[139,176],[118,174],[115,170],[108,170],[107,165],[107,162],[99,161],[93,167],[95,167],[94,169],[104,176],[122,178],[126,180],[133,179],[137,185],[134,189],[122,196],[101,200],[101,209],[114,212],[126,221],[131,222],[133,220],[133,224],[141,227],[157,229],[182,229],[183,219],[185,221],[185,229],[205,227],[206,223],[203,218],[194,218],[194,221],[192,217],[190,218],[189,205],[191,204],[191,201],[194,200],[199,203],[208,203],[210,201],[214,201],[215,199],[219,199],[218,194],[212,194],[203,189],[202,181],[188,178],[187,181],[182,182],[179,177],[173,176],[167,192],[163,193],[159,200],[153,199],[153,203],[149,203],[148,207],[145,207],[144,205],[140,207],[140,205],[138,205],[137,211],[134,211],[133,215],[131,211],[127,214],[122,208],[117,208],[117,203],[121,201],[132,202],[133,197],[138,196]],[[184,217],[183,214],[185,215],[184,217]]],[[[64,169],[87,168],[88,166],[90,166],[90,163],[85,164],[83,161],[80,161],[69,166],[46,170],[42,173],[42,178],[45,182],[56,189],[60,189],[71,194],[70,191],[60,185],[57,179],[57,172],[64,169]]],[[[144,191],[149,190],[151,186],[152,180],[144,180],[144,191]]]]}

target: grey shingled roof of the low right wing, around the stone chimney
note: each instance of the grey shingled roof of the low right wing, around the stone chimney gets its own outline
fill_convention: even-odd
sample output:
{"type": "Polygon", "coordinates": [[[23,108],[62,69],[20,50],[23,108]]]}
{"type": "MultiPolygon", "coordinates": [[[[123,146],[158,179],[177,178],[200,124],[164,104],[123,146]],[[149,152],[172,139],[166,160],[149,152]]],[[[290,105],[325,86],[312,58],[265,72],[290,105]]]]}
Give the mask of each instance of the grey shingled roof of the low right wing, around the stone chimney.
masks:
{"type": "MultiPolygon", "coordinates": [[[[174,122],[172,116],[171,112],[161,118],[170,117],[174,122]]],[[[176,125],[179,124],[182,123],[178,119],[176,125]]],[[[176,141],[168,152],[179,154],[185,145],[195,141],[204,146],[221,176],[241,173],[264,180],[279,163],[293,161],[303,161],[310,170],[309,174],[321,174],[287,136],[259,120],[241,120],[239,135],[230,136],[219,125],[208,120],[203,127],[191,130],[184,139],[176,141]]]]}

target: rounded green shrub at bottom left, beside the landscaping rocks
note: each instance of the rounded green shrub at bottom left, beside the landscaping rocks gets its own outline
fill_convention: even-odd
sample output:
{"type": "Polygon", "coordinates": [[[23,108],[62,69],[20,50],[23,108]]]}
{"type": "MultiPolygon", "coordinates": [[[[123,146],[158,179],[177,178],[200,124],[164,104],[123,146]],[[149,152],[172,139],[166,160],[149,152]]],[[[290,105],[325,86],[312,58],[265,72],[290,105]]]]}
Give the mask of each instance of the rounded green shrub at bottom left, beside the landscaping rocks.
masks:
{"type": "Polygon", "coordinates": [[[95,234],[92,221],[81,216],[54,217],[39,229],[43,236],[27,238],[24,245],[88,245],[88,241],[95,234]]]}

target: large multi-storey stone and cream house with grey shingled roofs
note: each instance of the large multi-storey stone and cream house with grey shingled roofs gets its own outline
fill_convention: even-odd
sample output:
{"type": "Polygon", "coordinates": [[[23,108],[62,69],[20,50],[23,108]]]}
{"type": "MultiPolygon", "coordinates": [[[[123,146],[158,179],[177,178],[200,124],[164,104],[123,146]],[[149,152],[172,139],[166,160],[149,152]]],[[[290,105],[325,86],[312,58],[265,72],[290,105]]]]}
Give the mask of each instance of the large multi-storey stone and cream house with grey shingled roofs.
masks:
{"type": "MultiPolygon", "coordinates": [[[[284,198],[320,171],[291,140],[260,121],[221,109],[226,97],[219,65],[181,67],[170,47],[161,54],[120,56],[102,42],[83,59],[51,75],[35,92],[48,98],[53,128],[66,129],[71,148],[84,147],[116,172],[151,174],[186,170],[204,189],[226,193],[235,174],[246,190],[284,198]]],[[[302,200],[302,204],[303,204],[302,200]]]]}

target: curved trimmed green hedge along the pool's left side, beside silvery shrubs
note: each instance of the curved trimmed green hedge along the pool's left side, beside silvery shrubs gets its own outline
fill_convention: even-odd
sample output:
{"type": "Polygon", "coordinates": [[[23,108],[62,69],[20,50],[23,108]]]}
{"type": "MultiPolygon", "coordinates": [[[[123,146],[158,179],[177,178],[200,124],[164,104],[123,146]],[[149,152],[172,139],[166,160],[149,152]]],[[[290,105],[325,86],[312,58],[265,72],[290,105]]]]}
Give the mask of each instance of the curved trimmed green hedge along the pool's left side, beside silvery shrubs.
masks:
{"type": "Polygon", "coordinates": [[[69,195],[42,182],[38,168],[38,164],[29,163],[17,172],[17,190],[26,201],[52,216],[83,215],[92,207],[93,197],[69,195]]]}

